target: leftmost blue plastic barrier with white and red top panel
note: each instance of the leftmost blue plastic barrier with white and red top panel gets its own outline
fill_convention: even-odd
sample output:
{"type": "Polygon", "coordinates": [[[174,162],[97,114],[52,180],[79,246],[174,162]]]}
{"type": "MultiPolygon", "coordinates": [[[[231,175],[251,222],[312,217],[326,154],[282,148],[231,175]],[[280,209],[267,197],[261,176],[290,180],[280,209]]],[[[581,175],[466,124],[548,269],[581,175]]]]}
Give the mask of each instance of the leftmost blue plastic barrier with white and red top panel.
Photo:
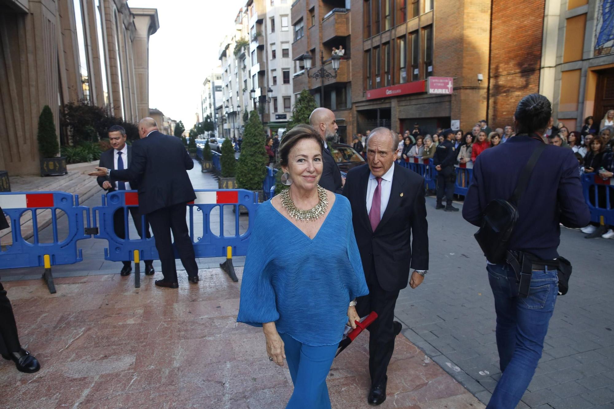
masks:
{"type": "Polygon", "coordinates": [[[79,206],[78,195],[64,192],[7,192],[0,193],[0,207],[10,218],[12,244],[0,248],[0,268],[45,267],[43,278],[49,291],[55,293],[52,265],[74,264],[83,260],[77,241],[91,237],[90,208],[79,206]],[[37,211],[50,209],[53,238],[50,243],[39,240],[37,211]],[[58,210],[66,214],[68,235],[58,240],[58,210]],[[23,238],[21,217],[31,212],[33,243],[23,238]]]}

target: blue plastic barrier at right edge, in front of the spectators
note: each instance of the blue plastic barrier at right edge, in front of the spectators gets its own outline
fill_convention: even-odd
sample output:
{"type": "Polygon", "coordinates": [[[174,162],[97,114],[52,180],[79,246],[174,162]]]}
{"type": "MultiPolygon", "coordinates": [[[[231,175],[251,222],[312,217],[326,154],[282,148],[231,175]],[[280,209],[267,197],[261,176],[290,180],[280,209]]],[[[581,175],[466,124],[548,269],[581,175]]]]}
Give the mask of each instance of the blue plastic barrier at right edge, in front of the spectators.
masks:
{"type": "Polygon", "coordinates": [[[591,211],[591,222],[602,225],[614,225],[614,178],[602,179],[598,174],[582,175],[582,190],[588,208],[591,211]]]}

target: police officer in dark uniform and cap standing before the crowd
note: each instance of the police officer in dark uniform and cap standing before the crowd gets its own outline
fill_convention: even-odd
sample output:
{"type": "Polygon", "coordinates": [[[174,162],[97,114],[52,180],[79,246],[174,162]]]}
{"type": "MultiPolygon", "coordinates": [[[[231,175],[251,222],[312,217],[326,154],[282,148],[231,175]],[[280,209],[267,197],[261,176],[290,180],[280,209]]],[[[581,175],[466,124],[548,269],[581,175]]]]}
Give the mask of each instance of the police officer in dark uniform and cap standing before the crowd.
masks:
{"type": "Polygon", "coordinates": [[[443,134],[446,139],[443,144],[438,144],[437,149],[435,149],[435,156],[433,156],[433,164],[437,169],[437,206],[435,206],[435,209],[444,209],[441,200],[443,200],[443,193],[446,193],[445,211],[457,212],[459,209],[452,206],[454,182],[456,181],[456,172],[454,172],[456,154],[452,143],[454,131],[448,128],[443,131],[443,134]]]}

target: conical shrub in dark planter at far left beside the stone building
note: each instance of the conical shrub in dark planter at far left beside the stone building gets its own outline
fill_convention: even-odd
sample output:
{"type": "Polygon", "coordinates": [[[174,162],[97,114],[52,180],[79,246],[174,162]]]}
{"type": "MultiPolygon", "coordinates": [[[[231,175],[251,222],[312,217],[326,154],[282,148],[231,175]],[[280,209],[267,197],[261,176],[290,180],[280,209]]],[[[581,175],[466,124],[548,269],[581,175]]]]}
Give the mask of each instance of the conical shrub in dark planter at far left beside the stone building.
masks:
{"type": "Polygon", "coordinates": [[[41,176],[54,176],[68,173],[66,171],[66,158],[58,157],[60,144],[55,133],[53,113],[49,105],[45,105],[39,117],[39,130],[37,135],[39,154],[41,155],[41,176]]]}

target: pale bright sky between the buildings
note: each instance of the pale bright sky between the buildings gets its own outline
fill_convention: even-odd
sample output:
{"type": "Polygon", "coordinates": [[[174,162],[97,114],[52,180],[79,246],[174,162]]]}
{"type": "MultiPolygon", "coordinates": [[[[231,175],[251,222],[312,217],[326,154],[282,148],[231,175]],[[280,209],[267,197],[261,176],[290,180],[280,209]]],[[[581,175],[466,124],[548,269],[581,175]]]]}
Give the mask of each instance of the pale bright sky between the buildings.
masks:
{"type": "MultiPolygon", "coordinates": [[[[207,74],[219,64],[219,48],[246,0],[128,0],[130,7],[158,9],[160,28],[149,37],[149,107],[182,120],[185,129],[201,112],[207,74]]],[[[201,119],[202,120],[202,119],[201,119]]]]}

